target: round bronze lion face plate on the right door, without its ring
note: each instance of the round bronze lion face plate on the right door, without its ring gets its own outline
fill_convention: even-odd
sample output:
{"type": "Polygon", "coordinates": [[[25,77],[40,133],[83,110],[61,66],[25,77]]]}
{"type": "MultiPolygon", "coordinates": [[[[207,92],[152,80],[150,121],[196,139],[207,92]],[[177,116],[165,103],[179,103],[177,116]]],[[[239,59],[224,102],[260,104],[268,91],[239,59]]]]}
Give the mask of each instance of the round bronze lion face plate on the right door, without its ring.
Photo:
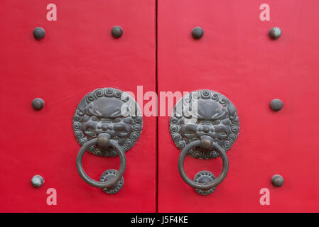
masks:
{"type": "MultiPolygon", "coordinates": [[[[183,96],[174,106],[170,131],[175,145],[183,150],[185,145],[209,135],[226,151],[239,133],[237,110],[229,99],[210,90],[194,91],[183,96]]],[[[218,157],[216,150],[193,148],[188,155],[209,159],[218,157]]]]}

